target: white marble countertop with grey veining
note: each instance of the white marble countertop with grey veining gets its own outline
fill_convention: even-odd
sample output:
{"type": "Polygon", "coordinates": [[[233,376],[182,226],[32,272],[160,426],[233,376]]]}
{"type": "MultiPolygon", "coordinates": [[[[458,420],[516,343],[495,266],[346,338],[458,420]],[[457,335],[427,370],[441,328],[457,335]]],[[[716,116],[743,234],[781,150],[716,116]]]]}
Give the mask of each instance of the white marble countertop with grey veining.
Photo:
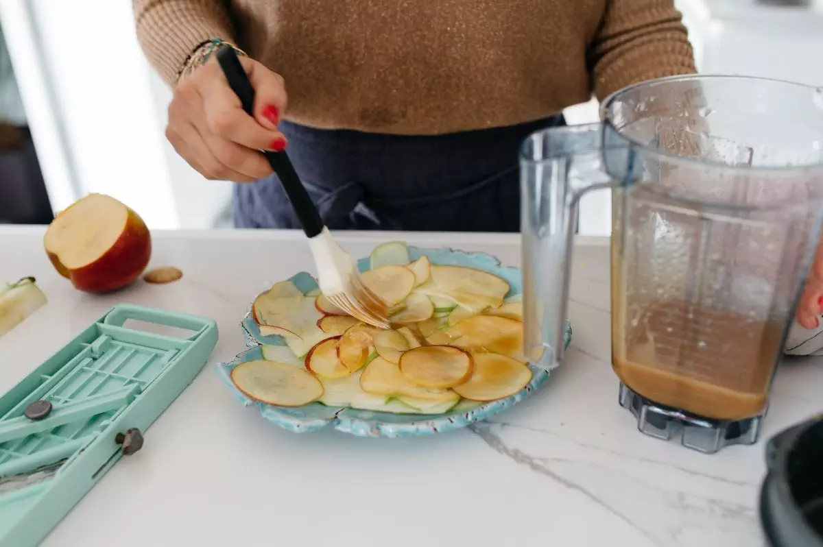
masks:
{"type": "MultiPolygon", "coordinates": [[[[0,227],[0,280],[36,276],[49,304],[0,338],[3,390],[120,301],[215,318],[220,341],[193,384],[44,541],[49,547],[439,547],[763,545],[763,442],[707,456],[640,434],[617,404],[609,348],[607,239],[580,239],[572,347],[546,386],[492,423],[427,438],[295,434],[244,408],[215,363],[244,350],[238,323],[259,290],[312,270],[302,235],[156,233],[153,265],[184,279],[120,294],[73,290],[42,229],[0,227]]],[[[518,265],[502,234],[392,234],[518,265]]],[[[368,254],[385,234],[346,234],[368,254]]],[[[821,410],[823,367],[779,372],[764,435],[821,410]]]]}

